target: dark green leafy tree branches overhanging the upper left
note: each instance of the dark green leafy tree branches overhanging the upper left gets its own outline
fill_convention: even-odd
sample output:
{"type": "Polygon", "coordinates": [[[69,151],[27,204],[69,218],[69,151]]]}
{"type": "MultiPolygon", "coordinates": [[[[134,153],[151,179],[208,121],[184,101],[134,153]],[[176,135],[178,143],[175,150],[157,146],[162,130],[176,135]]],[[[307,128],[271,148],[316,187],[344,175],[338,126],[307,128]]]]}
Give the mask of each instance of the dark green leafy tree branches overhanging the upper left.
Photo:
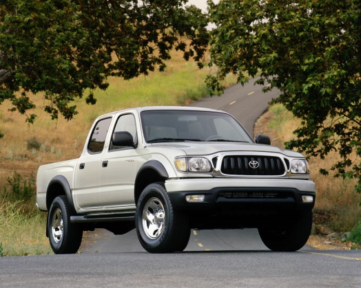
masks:
{"type": "Polygon", "coordinates": [[[53,119],[70,120],[85,89],[95,104],[93,90],[106,89],[107,77],[163,71],[171,49],[201,65],[207,18],[186,2],[1,0],[0,104],[10,100],[32,123],[30,95],[40,94],[53,119]]]}

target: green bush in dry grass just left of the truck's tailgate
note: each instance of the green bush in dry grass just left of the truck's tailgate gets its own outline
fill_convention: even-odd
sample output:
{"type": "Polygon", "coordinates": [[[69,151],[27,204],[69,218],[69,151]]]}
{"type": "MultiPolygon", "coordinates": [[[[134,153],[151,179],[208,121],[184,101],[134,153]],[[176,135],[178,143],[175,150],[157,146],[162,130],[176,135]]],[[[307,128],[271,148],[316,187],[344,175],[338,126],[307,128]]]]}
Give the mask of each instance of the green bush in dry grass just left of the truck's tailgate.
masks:
{"type": "Polygon", "coordinates": [[[23,177],[14,172],[12,177],[8,177],[8,189],[4,189],[4,198],[8,201],[28,201],[35,196],[35,178],[31,175],[29,179],[23,179],[23,177]]]}

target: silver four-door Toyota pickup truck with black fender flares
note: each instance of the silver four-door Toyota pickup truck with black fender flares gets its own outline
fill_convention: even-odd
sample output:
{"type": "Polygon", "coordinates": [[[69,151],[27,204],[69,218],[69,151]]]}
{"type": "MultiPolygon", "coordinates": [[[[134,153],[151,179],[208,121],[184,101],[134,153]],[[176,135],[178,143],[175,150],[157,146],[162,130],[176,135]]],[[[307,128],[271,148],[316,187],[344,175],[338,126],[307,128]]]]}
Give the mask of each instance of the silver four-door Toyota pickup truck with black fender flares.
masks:
{"type": "Polygon", "coordinates": [[[83,231],[136,229],[147,252],[183,251],[191,229],[257,228],[270,250],[309,238],[315,184],[305,157],[254,141],[231,115],[142,107],[97,118],[79,159],[37,173],[55,254],[76,253],[83,231]]]}

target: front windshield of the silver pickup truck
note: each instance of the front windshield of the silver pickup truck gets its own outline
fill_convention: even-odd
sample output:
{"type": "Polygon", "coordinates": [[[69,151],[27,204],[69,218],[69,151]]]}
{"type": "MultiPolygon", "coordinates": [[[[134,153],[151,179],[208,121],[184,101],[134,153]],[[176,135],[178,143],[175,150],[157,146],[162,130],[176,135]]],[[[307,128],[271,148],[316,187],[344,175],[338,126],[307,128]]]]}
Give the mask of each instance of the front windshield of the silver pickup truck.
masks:
{"type": "Polygon", "coordinates": [[[253,142],[230,115],[211,111],[143,111],[141,121],[145,141],[253,142]]]}

